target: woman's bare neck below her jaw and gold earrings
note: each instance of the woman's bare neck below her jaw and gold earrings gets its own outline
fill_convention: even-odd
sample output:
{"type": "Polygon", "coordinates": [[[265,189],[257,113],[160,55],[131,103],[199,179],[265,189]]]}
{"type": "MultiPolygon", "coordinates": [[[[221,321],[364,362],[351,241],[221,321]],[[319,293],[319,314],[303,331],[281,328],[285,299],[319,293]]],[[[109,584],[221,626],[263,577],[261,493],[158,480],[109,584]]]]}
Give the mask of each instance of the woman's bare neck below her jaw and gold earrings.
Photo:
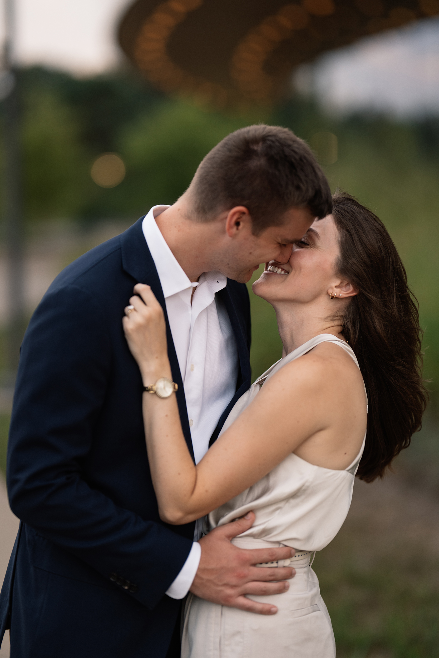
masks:
{"type": "Polygon", "coordinates": [[[322,309],[321,305],[281,303],[274,304],[274,311],[282,340],[283,357],[319,334],[334,334],[343,338],[342,324],[325,317],[327,310],[322,309]]]}

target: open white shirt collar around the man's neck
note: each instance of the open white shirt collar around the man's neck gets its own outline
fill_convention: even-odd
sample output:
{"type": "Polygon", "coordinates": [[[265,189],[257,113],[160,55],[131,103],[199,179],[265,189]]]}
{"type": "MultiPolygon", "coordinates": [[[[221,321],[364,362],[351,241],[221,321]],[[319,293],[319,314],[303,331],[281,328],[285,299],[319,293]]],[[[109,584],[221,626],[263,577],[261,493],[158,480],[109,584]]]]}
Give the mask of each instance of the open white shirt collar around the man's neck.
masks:
{"type": "MultiPolygon", "coordinates": [[[[193,287],[182,266],[178,263],[176,257],[169,249],[167,241],[163,238],[163,235],[155,222],[155,218],[167,208],[170,208],[170,206],[153,206],[149,213],[145,215],[142,222],[143,236],[145,236],[149,251],[153,257],[155,268],[157,269],[157,274],[159,274],[165,299],[166,297],[175,295],[182,290],[186,290],[186,288],[193,287]]],[[[225,288],[227,285],[227,278],[224,274],[221,274],[221,272],[205,272],[204,275],[201,275],[200,283],[203,276],[214,293],[222,290],[222,288],[225,288]]]]}

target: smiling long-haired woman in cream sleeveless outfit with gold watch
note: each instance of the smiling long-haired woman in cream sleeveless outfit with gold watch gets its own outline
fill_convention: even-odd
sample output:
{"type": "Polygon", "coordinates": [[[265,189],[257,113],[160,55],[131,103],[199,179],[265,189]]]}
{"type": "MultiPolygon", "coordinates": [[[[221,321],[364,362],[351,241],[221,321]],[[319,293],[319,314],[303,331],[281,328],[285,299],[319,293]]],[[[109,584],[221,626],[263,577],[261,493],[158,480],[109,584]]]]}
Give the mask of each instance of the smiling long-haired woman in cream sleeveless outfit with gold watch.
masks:
{"type": "MultiPolygon", "coordinates": [[[[171,376],[165,322],[151,290],[138,284],[135,291],[142,299],[130,299],[124,331],[149,386],[171,376]]],[[[270,597],[267,615],[252,611],[252,600],[267,603],[262,596],[236,609],[190,594],[182,657],[334,658],[311,562],[346,519],[355,474],[367,482],[382,476],[421,424],[417,307],[383,224],[340,194],[288,263],[266,264],[253,291],[276,311],[282,359],[238,400],[196,466],[175,396],[143,395],[147,451],[163,520],[207,515],[206,529],[215,532],[254,513],[232,543],[292,547],[282,564],[257,566],[289,563],[295,575],[270,597]]]]}

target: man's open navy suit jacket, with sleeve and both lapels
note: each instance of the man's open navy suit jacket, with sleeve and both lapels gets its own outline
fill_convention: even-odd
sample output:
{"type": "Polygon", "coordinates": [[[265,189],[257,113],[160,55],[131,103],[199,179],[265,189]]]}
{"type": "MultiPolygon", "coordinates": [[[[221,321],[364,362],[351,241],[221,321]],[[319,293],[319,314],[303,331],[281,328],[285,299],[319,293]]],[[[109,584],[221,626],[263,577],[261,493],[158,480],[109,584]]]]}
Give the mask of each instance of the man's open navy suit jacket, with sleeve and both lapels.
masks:
{"type": "MultiPolygon", "coordinates": [[[[165,592],[188,557],[194,523],[159,518],[142,379],[121,322],[137,282],[151,286],[166,316],[142,219],[63,270],[24,336],[7,459],[9,501],[21,523],[0,595],[0,641],[10,626],[12,658],[165,657],[180,610],[165,592]]],[[[250,384],[247,289],[228,280],[217,294],[240,370],[214,438],[250,384]]]]}

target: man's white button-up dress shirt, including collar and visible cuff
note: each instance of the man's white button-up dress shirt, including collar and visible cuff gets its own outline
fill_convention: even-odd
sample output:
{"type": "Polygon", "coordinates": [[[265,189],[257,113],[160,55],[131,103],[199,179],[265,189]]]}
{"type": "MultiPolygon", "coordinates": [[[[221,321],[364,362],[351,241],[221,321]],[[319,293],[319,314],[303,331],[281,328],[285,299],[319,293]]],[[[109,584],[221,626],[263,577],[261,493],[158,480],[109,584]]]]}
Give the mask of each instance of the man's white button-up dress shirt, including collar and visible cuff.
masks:
{"type": "MultiPolygon", "coordinates": [[[[142,222],[143,235],[157,268],[184,385],[195,463],[209,448],[219,418],[234,396],[238,378],[238,349],[228,313],[215,293],[227,280],[220,272],[204,272],[190,282],[170,251],[155,222],[169,206],[151,208],[142,222]],[[194,295],[191,295],[194,290],[194,295]]],[[[195,526],[194,539],[199,539],[195,526]]],[[[195,578],[201,546],[195,541],[182,570],[167,590],[182,599],[195,578]]]]}

